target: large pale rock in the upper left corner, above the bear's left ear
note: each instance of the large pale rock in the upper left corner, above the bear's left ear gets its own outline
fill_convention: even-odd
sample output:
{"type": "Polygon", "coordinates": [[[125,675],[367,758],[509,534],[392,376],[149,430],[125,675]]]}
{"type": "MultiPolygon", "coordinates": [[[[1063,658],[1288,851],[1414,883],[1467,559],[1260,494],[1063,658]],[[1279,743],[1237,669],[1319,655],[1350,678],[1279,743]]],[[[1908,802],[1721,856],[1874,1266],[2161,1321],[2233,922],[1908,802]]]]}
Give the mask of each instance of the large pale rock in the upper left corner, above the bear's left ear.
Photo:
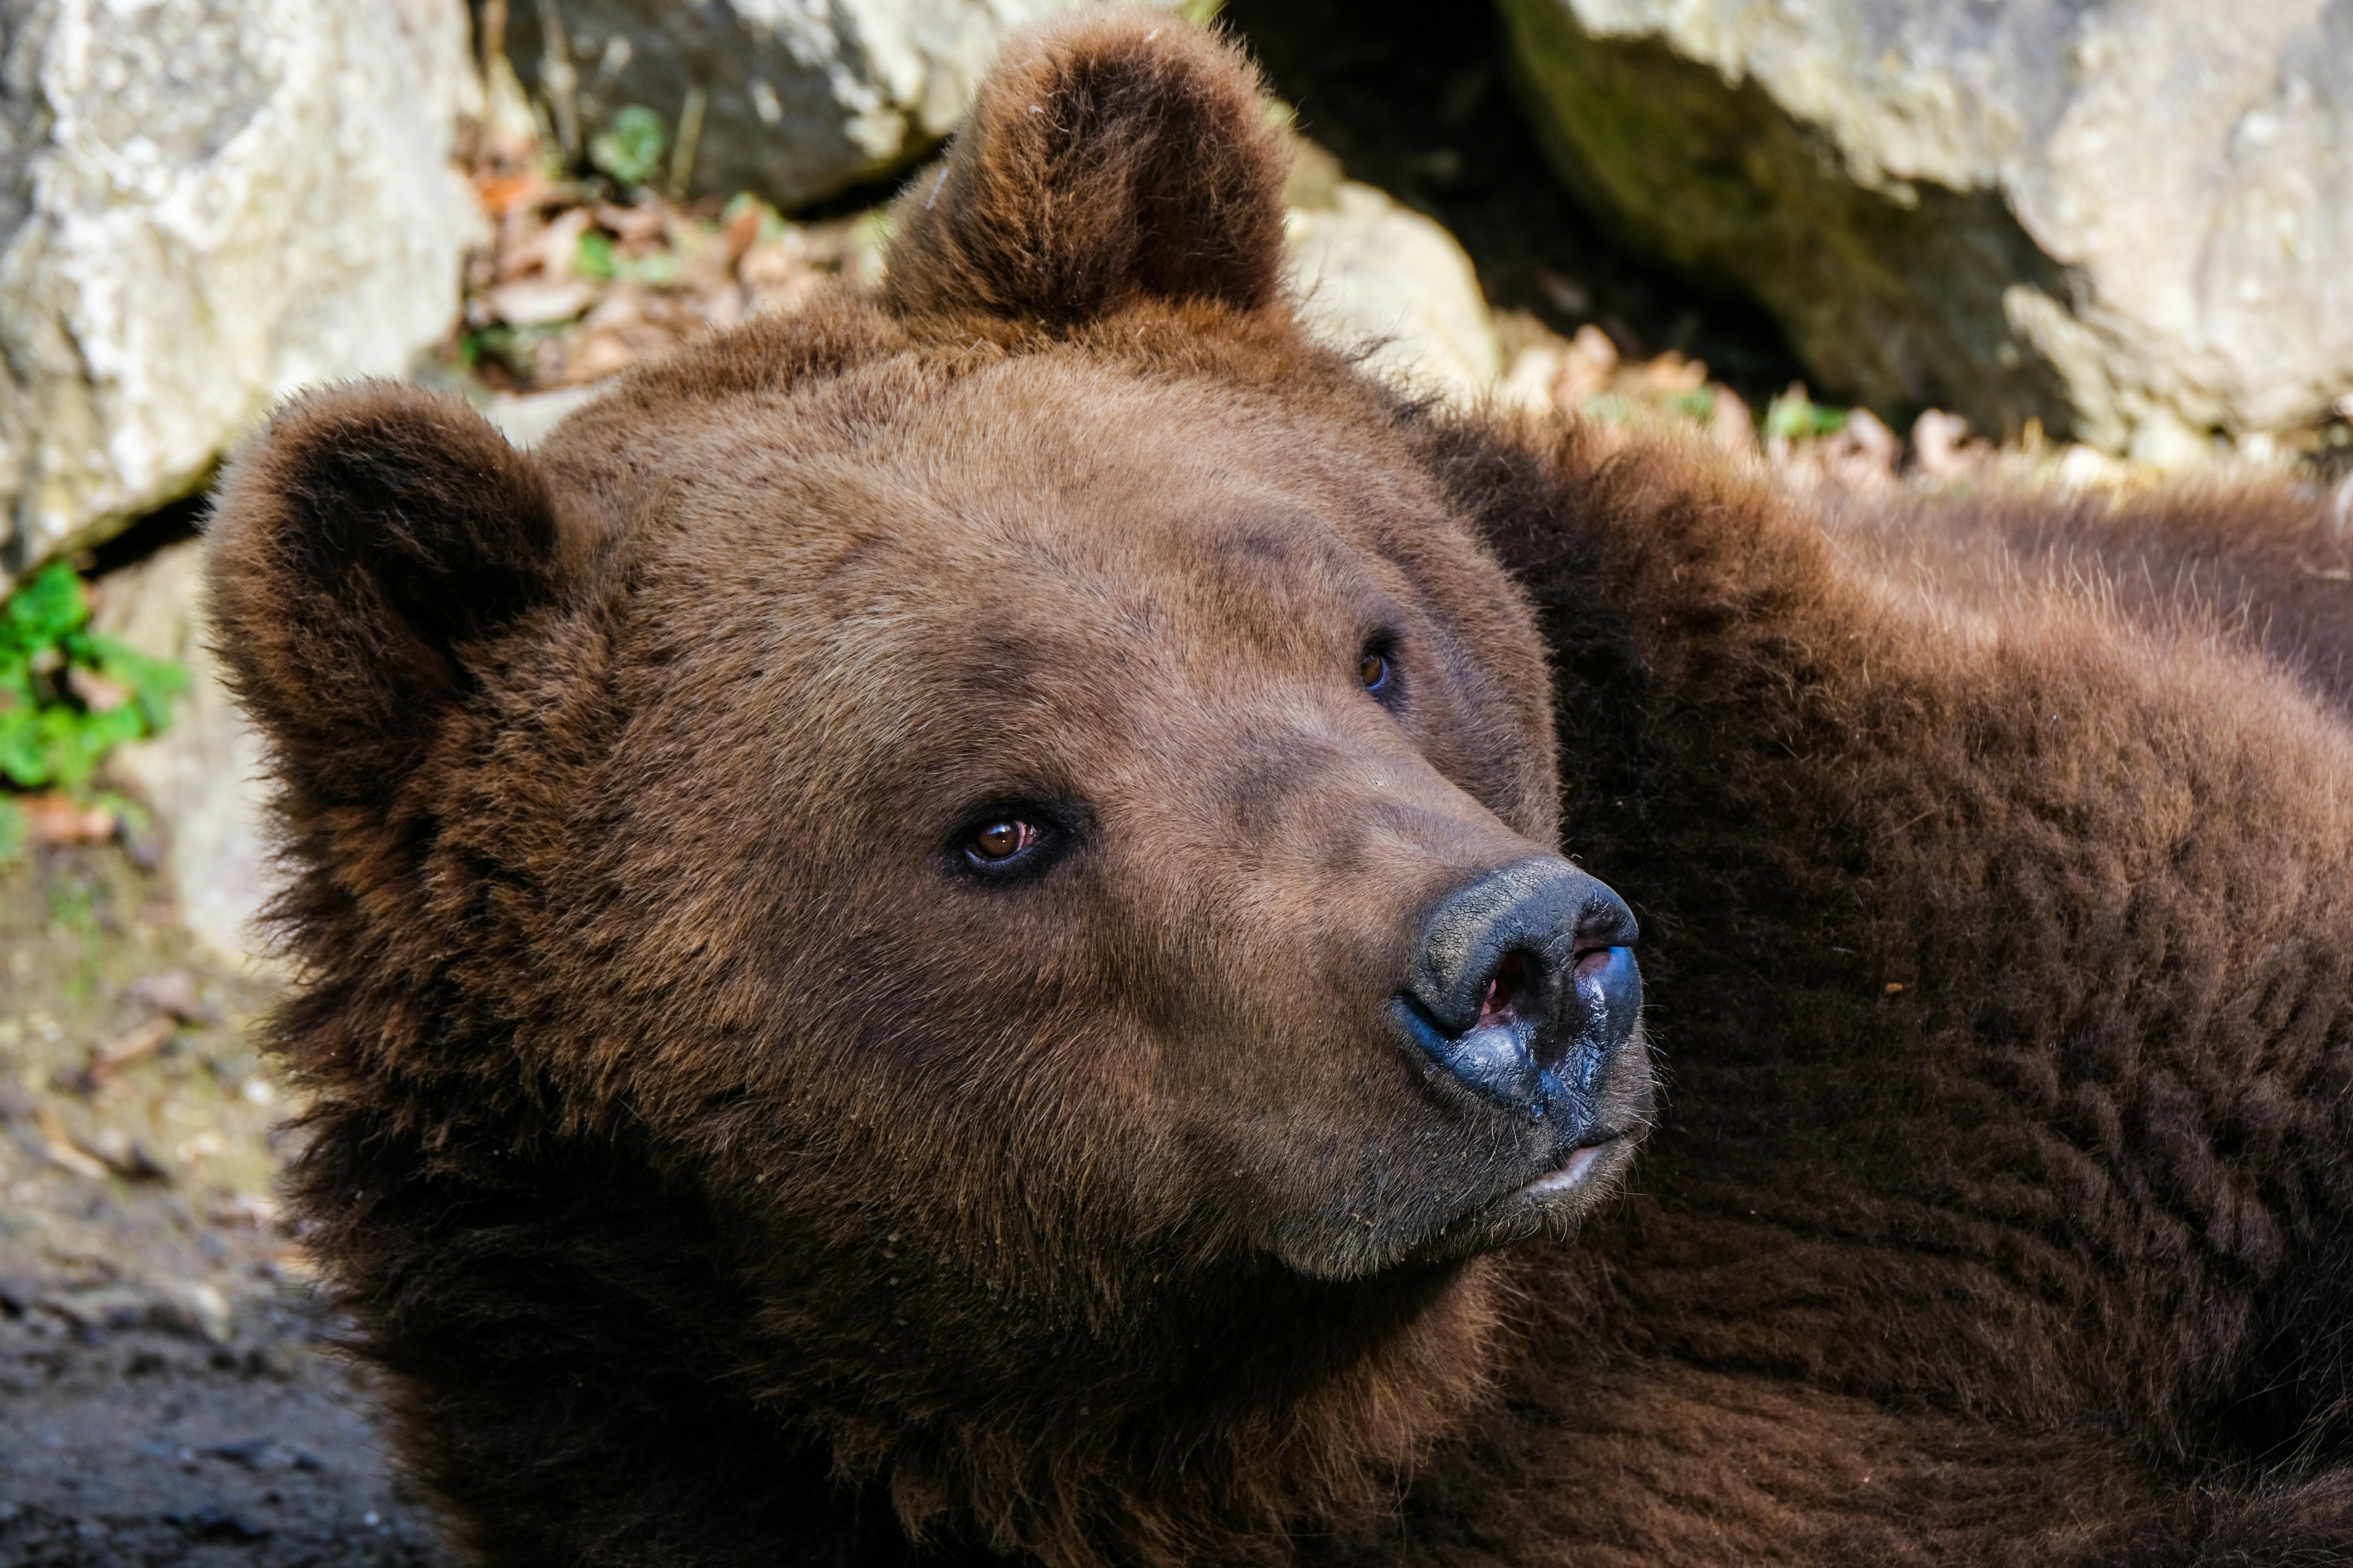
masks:
{"type": "Polygon", "coordinates": [[[0,588],[400,374],[480,216],[464,0],[0,0],[0,588]]]}

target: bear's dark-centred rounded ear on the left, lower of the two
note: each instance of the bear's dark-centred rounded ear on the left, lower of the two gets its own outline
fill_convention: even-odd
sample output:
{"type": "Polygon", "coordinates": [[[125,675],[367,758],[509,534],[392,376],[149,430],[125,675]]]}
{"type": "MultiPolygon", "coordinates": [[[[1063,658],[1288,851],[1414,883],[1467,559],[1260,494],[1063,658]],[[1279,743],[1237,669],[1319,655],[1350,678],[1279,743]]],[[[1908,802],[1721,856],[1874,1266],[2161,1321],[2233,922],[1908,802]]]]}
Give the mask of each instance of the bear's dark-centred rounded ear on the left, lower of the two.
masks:
{"type": "Polygon", "coordinates": [[[381,804],[473,656],[562,578],[548,484],[454,397],[355,383],[280,409],[205,531],[212,637],[287,785],[381,804]]]}

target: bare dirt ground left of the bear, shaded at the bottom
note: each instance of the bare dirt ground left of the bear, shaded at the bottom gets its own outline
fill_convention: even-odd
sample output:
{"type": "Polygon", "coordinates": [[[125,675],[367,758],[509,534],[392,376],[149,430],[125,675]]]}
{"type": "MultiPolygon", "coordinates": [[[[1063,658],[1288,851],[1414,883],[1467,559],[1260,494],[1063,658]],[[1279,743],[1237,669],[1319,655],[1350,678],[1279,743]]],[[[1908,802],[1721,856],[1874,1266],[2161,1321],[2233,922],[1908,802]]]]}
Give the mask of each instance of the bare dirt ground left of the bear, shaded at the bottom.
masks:
{"type": "Polygon", "coordinates": [[[266,976],[120,844],[0,867],[0,1563],[438,1566],[271,1173],[266,976]]]}

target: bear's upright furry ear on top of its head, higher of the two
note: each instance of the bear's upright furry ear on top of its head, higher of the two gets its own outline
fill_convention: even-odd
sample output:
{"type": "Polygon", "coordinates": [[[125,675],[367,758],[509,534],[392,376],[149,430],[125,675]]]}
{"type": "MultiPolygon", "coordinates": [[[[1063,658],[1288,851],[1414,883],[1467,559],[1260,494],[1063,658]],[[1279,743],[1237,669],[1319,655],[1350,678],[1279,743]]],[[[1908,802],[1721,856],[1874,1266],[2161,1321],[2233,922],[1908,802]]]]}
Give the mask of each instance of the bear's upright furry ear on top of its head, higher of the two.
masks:
{"type": "Polygon", "coordinates": [[[1007,47],[946,167],[901,197],[882,303],[1047,327],[1141,299],[1259,310],[1287,172],[1238,49],[1167,12],[1082,14],[1007,47]]]}

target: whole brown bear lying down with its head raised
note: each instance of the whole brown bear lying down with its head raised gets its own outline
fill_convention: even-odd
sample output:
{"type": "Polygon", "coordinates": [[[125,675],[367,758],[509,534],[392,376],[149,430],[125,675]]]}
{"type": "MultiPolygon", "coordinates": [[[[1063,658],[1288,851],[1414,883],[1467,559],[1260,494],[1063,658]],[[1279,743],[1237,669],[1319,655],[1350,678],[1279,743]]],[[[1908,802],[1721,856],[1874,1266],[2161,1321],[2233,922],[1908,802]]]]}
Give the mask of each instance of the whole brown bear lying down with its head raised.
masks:
{"type": "Polygon", "coordinates": [[[461,1547],[2353,1561],[2327,508],[1457,416],[1282,174],[1089,14],[875,296],[226,477],[294,1201],[461,1547]]]}

